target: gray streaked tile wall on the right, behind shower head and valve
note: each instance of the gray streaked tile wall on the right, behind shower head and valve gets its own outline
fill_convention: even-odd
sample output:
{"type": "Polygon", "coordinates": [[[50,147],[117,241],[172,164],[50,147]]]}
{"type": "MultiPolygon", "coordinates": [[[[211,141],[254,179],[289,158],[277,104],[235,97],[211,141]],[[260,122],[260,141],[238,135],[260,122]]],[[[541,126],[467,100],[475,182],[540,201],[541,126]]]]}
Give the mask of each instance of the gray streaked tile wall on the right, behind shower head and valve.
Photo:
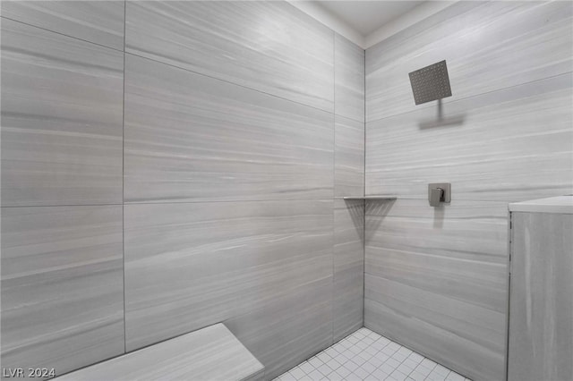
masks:
{"type": "Polygon", "coordinates": [[[365,324],[475,380],[504,378],[507,203],[573,191],[571,14],[458,2],[366,51],[365,193],[398,201],[367,213],[365,324]],[[407,73],[443,59],[439,115],[407,73]]]}

